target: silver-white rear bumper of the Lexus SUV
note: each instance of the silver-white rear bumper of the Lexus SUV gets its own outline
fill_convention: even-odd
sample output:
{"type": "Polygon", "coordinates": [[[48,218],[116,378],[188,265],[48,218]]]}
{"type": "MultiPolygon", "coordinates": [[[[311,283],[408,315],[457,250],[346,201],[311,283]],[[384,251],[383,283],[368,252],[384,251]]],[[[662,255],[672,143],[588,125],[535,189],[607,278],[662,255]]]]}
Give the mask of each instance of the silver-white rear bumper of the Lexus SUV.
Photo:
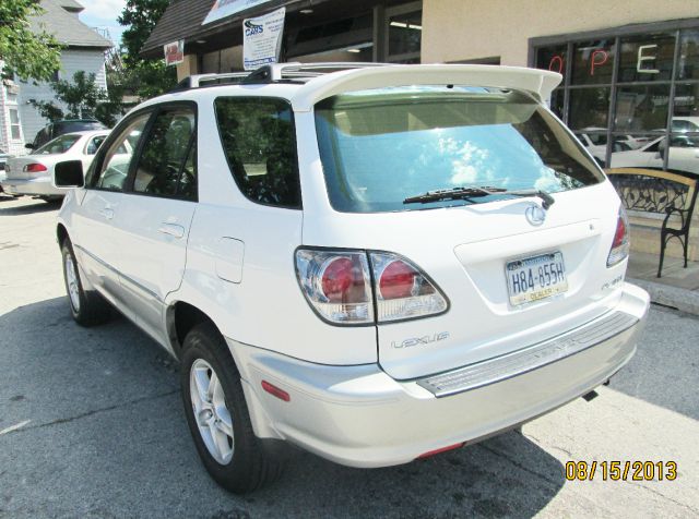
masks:
{"type": "Polygon", "coordinates": [[[482,374],[486,363],[454,370],[461,386],[441,394],[436,377],[399,382],[376,364],[319,365],[228,342],[258,436],[287,439],[351,467],[386,467],[476,442],[590,391],[631,359],[648,307],[648,294],[627,283],[613,312],[546,343],[528,345],[520,351],[535,351],[533,357],[496,365],[501,376],[487,384],[463,377],[469,369],[482,374]],[[609,318],[617,325],[609,326],[609,318]],[[584,347],[570,347],[580,346],[583,336],[584,347]],[[559,347],[546,347],[550,343],[559,347]],[[546,362],[532,364],[532,359],[546,362]],[[264,393],[262,381],[287,391],[291,401],[264,393]]]}

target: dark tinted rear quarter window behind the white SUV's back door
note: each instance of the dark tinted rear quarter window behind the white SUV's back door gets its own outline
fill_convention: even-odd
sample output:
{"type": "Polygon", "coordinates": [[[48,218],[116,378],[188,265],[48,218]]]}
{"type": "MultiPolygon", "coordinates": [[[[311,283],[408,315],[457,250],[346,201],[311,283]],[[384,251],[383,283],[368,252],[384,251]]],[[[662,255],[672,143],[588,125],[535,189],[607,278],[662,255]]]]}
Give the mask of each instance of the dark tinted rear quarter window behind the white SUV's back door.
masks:
{"type": "Polygon", "coordinates": [[[233,176],[259,204],[300,208],[292,107],[268,97],[220,97],[216,122],[233,176]]]}

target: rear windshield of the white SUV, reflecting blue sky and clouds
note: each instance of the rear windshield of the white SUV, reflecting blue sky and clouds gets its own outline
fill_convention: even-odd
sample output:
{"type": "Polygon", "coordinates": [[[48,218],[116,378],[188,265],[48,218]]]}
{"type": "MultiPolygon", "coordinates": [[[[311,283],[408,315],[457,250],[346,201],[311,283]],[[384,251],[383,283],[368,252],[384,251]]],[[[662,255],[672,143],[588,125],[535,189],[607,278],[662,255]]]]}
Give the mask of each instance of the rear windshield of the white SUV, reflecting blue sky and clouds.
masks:
{"type": "Polygon", "coordinates": [[[316,128],[330,202],[345,213],[507,196],[404,203],[436,190],[555,193],[604,180],[545,108],[513,90],[420,86],[343,94],[316,105],[316,128]]]}

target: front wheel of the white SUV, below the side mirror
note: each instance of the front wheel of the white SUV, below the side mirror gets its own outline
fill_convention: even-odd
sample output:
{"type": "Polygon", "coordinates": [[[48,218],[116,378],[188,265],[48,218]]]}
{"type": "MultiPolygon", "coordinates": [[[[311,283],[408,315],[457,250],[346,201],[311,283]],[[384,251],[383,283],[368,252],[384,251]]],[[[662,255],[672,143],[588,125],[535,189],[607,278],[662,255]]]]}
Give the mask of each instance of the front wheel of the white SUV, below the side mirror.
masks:
{"type": "Polygon", "coordinates": [[[63,280],[73,319],[81,326],[95,326],[111,317],[111,306],[97,292],[86,292],[80,279],[80,268],[69,238],[61,243],[63,280]]]}

